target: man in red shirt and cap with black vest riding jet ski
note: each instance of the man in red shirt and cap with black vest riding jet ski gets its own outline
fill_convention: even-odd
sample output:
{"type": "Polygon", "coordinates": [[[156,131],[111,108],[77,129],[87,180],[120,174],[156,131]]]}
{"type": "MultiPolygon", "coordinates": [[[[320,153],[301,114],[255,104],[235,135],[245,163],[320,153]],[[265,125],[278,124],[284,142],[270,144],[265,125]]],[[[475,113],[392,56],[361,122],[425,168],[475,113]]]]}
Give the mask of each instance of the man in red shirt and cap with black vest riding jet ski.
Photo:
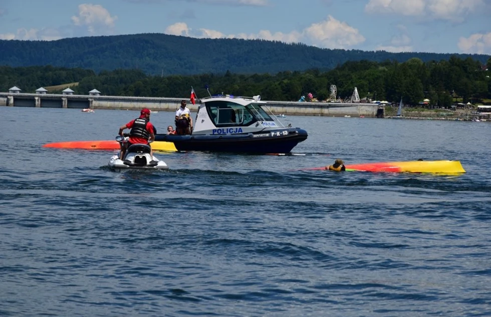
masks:
{"type": "MultiPolygon", "coordinates": [[[[125,125],[119,128],[119,135],[123,135],[124,129],[131,129],[130,138],[128,142],[124,143],[125,146],[121,149],[121,159],[124,158],[126,149],[132,144],[149,144],[155,140],[155,132],[153,124],[150,123],[150,110],[144,108],[140,112],[140,117],[131,120],[125,125]]],[[[152,153],[150,153],[152,154],[152,153]]],[[[153,154],[152,154],[153,155],[153,154]]]]}

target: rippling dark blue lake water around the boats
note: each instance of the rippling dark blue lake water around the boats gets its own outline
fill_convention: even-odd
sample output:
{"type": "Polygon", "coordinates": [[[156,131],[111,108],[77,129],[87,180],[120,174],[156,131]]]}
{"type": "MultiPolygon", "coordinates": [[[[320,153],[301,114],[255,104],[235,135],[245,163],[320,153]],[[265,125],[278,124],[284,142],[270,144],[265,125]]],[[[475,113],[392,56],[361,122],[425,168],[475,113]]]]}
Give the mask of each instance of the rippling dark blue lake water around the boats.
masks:
{"type": "Polygon", "coordinates": [[[289,116],[305,155],[156,153],[155,172],[41,147],[137,114],[0,107],[0,315],[491,315],[491,124],[289,116]],[[301,170],[336,158],[467,173],[301,170]]]}

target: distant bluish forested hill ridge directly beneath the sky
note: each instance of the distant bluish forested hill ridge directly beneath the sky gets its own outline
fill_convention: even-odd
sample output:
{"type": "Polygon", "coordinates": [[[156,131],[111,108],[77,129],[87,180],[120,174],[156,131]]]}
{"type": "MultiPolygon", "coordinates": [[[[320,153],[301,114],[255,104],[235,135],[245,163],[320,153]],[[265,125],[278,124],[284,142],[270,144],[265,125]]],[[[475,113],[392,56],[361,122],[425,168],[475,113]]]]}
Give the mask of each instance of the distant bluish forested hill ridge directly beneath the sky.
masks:
{"type": "Polygon", "coordinates": [[[304,44],[264,40],[194,39],[165,34],[70,38],[58,41],[0,40],[0,65],[59,66],[100,72],[139,69],[148,75],[204,73],[276,74],[283,71],[327,71],[347,61],[423,62],[471,57],[485,64],[489,56],[384,51],[330,50],[304,44]]]}

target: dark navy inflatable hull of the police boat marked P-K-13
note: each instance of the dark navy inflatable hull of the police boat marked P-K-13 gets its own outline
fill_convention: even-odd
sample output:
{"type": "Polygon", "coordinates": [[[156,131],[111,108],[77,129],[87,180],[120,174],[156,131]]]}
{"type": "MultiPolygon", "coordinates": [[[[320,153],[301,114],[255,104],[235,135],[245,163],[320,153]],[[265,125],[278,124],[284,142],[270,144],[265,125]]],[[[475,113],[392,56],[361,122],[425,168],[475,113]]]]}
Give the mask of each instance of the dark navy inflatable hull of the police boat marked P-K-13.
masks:
{"type": "Polygon", "coordinates": [[[156,135],[155,140],[173,142],[177,151],[236,153],[290,153],[307,139],[307,131],[286,128],[266,133],[228,135],[156,135]]]}

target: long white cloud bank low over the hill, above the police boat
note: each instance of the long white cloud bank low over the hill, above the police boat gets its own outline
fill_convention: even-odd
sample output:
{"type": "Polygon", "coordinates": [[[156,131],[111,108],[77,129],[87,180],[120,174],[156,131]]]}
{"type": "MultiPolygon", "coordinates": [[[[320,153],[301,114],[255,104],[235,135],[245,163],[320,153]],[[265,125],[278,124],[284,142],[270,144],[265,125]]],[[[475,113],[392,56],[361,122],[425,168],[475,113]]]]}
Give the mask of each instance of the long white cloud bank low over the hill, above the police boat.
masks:
{"type": "Polygon", "coordinates": [[[321,48],[346,49],[353,47],[365,41],[360,32],[350,27],[344,22],[340,22],[329,16],[327,20],[320,23],[312,24],[310,27],[290,33],[276,32],[271,33],[269,30],[261,30],[258,34],[223,34],[219,31],[199,29],[193,31],[185,23],[176,23],[167,27],[164,31],[166,34],[182,35],[193,38],[235,38],[235,39],[262,39],[268,41],[280,41],[285,43],[306,43],[321,48]]]}

